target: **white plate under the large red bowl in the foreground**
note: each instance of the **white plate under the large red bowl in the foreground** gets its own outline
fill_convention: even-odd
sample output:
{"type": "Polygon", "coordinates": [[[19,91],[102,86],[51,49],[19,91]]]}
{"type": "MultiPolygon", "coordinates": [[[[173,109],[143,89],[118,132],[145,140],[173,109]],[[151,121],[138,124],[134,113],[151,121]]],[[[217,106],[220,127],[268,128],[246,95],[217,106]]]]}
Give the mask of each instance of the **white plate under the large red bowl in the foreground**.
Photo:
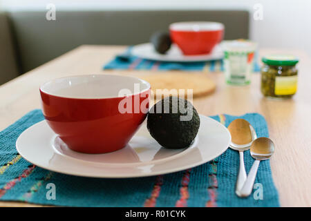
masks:
{"type": "Polygon", "coordinates": [[[50,171],[84,177],[145,177],[189,169],[222,154],[231,136],[223,124],[200,115],[200,128],[189,148],[162,148],[142,124],[129,144],[119,151],[86,154],[71,151],[46,121],[23,131],[17,151],[28,162],[50,171]]]}

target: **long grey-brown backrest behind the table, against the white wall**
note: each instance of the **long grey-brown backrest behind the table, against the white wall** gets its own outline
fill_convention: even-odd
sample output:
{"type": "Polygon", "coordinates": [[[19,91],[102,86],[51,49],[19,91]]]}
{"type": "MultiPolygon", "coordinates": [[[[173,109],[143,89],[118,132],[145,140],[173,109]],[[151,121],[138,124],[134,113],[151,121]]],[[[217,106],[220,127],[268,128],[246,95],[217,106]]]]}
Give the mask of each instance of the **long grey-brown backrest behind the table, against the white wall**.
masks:
{"type": "Polygon", "coordinates": [[[176,21],[219,21],[225,39],[249,37],[249,13],[239,10],[10,12],[22,72],[82,44],[133,45],[176,21]]]}

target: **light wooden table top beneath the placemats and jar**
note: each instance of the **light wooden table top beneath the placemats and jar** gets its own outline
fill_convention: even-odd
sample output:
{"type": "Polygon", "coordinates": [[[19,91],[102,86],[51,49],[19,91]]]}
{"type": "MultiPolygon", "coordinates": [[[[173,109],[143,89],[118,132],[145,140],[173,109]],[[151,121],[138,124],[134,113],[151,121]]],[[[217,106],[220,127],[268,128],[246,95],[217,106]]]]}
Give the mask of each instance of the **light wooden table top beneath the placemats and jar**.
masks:
{"type": "MultiPolygon", "coordinates": [[[[39,85],[68,75],[118,73],[135,75],[137,70],[102,70],[103,64],[124,46],[80,46],[53,61],[0,86],[0,130],[34,108],[40,108],[39,85]]],[[[223,73],[203,73],[214,79],[214,94],[194,99],[199,113],[261,113],[267,120],[270,137],[276,144],[272,156],[272,175],[279,190],[281,206],[311,206],[311,58],[301,51],[289,52],[300,58],[299,89],[293,99],[265,99],[260,91],[260,75],[252,76],[249,86],[227,86],[223,73]]],[[[150,73],[142,70],[140,73],[150,73]]],[[[0,202],[0,206],[34,206],[20,202],[0,202]]]]}

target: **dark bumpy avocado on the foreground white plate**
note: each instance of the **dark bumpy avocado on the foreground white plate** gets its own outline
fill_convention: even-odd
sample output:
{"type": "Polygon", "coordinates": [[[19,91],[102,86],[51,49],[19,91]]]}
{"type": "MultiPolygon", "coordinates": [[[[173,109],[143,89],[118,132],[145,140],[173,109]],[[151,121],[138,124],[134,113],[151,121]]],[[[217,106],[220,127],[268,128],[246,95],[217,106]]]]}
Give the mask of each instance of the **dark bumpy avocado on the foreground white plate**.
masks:
{"type": "MultiPolygon", "coordinates": [[[[176,97],[175,99],[178,99],[179,105],[181,99],[176,97]]],[[[185,107],[193,108],[193,115],[189,121],[180,121],[180,116],[187,115],[187,113],[182,114],[180,111],[172,113],[173,106],[172,97],[165,97],[156,103],[148,113],[147,128],[151,136],[161,146],[173,149],[187,148],[194,142],[194,138],[198,133],[200,117],[194,106],[185,100],[185,107]],[[169,113],[163,113],[164,101],[167,101],[167,99],[169,99],[169,113]],[[158,111],[157,106],[162,106],[162,111],[158,111]]]]}

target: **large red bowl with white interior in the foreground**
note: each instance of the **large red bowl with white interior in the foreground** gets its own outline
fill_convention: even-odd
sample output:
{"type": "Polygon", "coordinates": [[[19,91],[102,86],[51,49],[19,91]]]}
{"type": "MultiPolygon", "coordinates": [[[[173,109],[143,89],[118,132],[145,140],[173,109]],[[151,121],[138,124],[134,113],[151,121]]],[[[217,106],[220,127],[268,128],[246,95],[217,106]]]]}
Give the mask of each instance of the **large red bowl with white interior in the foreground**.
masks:
{"type": "Polygon", "coordinates": [[[149,110],[150,84],[120,75],[54,79],[40,87],[46,122],[73,151],[126,146],[149,110]]]}

